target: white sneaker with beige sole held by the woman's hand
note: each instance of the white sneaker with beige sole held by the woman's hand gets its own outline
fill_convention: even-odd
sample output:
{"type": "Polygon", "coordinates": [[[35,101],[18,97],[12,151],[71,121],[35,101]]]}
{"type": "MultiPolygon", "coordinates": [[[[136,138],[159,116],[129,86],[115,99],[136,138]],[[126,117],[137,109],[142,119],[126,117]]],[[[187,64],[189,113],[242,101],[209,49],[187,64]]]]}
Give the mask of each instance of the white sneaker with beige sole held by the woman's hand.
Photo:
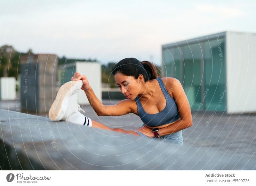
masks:
{"type": "Polygon", "coordinates": [[[82,86],[83,82],[79,80],[69,81],[60,87],[56,99],[49,110],[49,118],[51,121],[68,121],[70,115],[80,110],[85,113],[77,103],[78,91],[82,86]]]}

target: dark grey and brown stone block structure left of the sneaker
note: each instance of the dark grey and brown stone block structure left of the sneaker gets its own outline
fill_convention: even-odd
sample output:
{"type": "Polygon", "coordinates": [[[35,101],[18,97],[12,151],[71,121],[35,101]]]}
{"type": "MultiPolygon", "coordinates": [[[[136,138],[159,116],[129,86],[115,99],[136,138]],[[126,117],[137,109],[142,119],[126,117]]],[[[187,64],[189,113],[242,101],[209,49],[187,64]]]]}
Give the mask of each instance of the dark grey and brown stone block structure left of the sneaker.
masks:
{"type": "Polygon", "coordinates": [[[48,114],[57,94],[57,68],[57,55],[28,55],[20,59],[20,99],[23,112],[48,114]]]}

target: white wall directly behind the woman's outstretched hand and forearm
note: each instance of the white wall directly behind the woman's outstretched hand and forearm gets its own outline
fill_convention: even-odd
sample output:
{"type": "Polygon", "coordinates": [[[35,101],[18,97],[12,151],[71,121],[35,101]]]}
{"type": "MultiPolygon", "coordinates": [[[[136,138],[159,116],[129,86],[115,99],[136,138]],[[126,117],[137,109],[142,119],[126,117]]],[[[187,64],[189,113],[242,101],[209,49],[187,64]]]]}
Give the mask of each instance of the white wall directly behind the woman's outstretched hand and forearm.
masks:
{"type": "MultiPolygon", "coordinates": [[[[93,92],[100,100],[102,100],[100,63],[76,62],[76,71],[82,75],[86,75],[93,92]]],[[[83,90],[79,90],[78,92],[78,104],[90,104],[83,90]]]]}

